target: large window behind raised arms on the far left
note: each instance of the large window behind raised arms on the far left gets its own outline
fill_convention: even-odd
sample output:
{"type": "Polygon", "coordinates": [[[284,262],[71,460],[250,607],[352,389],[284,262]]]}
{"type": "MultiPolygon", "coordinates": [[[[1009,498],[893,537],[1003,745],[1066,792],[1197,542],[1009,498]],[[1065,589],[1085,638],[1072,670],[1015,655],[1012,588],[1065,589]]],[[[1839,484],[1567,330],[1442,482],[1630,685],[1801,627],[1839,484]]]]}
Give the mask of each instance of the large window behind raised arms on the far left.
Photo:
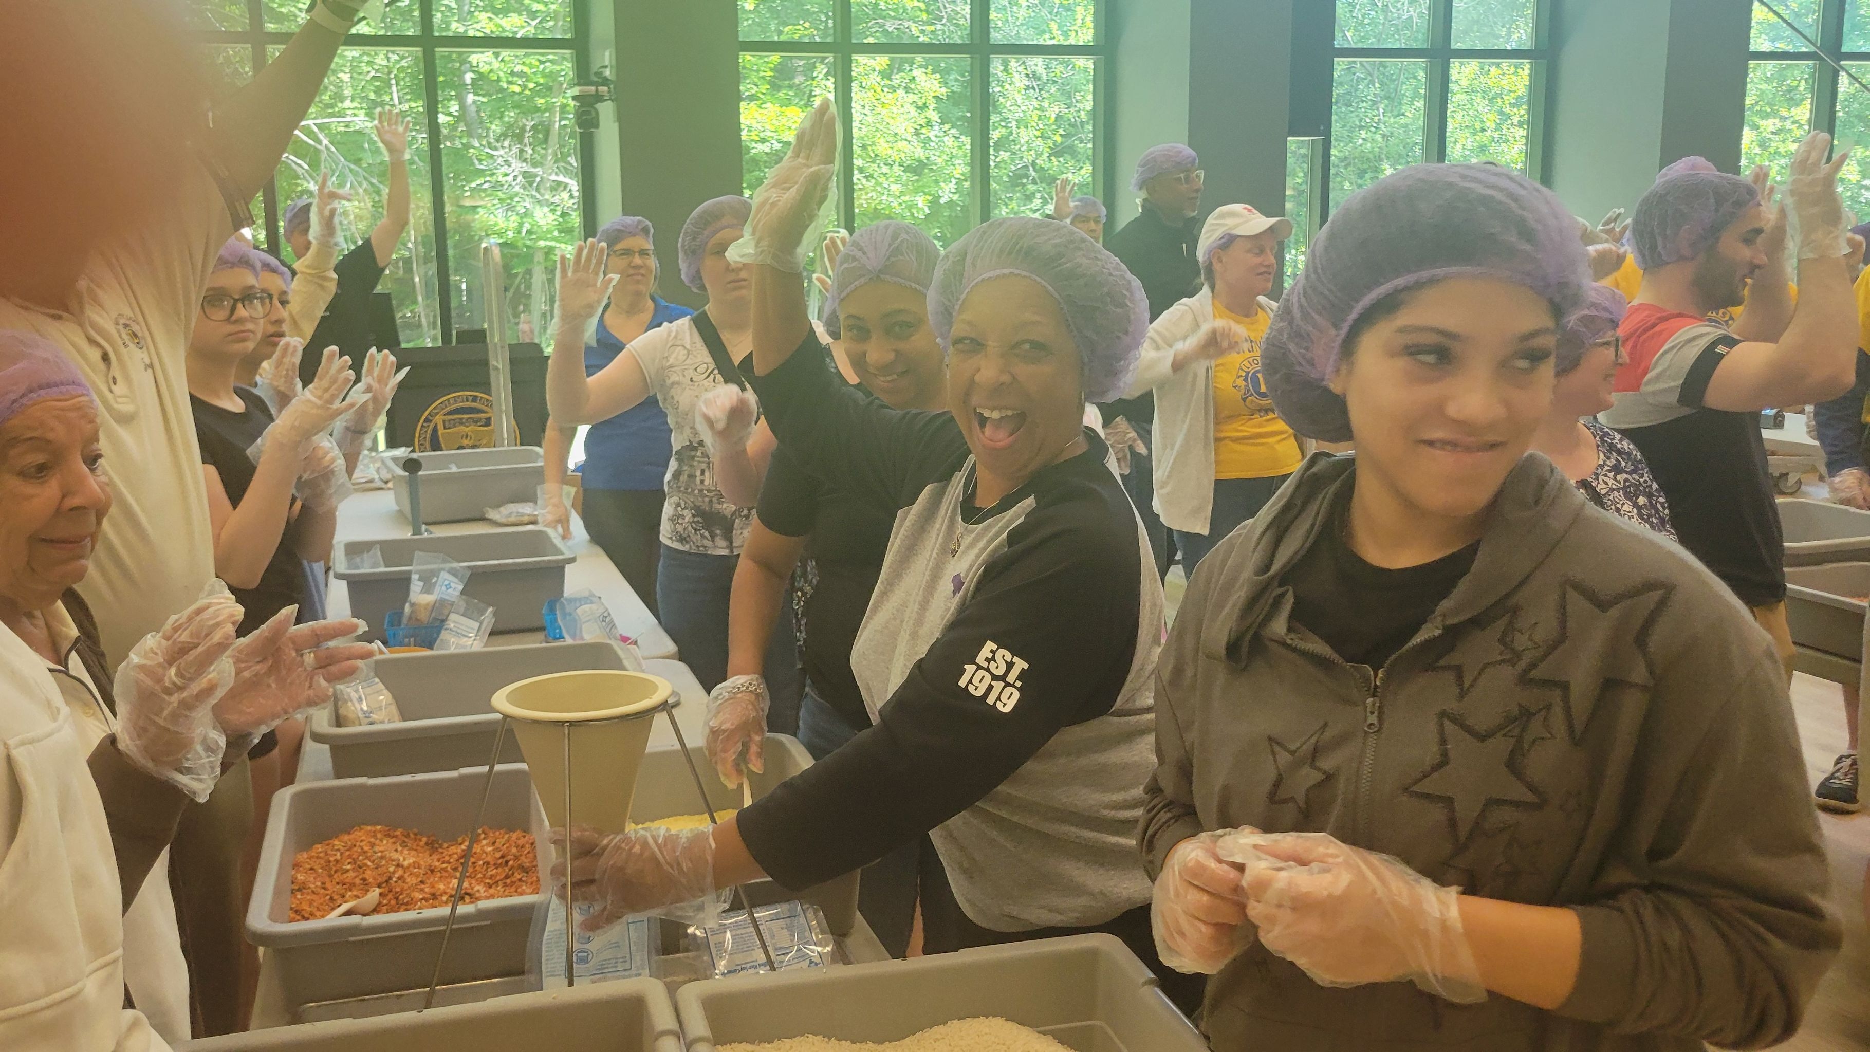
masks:
{"type": "MultiPolygon", "coordinates": [[[[249,80],[305,21],[303,0],[191,2],[228,86],[249,80]]],[[[486,325],[484,241],[501,247],[509,333],[544,331],[557,252],[576,241],[589,198],[574,127],[582,30],[572,4],[395,0],[381,22],[361,22],[254,206],[264,217],[254,241],[290,260],[280,215],[310,196],[320,174],[352,194],[338,215],[340,250],[368,239],[389,178],[372,125],[380,108],[396,108],[411,123],[410,230],[378,288],[396,305],[402,342],[451,344],[486,325]]]]}

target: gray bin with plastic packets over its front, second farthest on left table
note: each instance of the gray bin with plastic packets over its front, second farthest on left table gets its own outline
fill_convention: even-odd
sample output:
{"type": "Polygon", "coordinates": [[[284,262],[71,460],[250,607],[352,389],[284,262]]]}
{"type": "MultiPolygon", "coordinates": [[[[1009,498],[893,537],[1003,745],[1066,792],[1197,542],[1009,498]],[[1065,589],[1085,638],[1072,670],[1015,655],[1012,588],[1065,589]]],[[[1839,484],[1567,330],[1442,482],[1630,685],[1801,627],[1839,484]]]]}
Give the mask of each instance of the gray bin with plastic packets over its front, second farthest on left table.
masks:
{"type": "Polygon", "coordinates": [[[494,632],[544,628],[546,604],[565,596],[565,568],[578,561],[559,534],[544,527],[346,540],[337,546],[333,576],[350,590],[352,617],[370,624],[365,641],[381,639],[383,615],[410,602],[417,551],[447,555],[468,568],[466,594],[494,607],[494,632]],[[381,549],[383,568],[355,568],[372,547],[381,549]]]}

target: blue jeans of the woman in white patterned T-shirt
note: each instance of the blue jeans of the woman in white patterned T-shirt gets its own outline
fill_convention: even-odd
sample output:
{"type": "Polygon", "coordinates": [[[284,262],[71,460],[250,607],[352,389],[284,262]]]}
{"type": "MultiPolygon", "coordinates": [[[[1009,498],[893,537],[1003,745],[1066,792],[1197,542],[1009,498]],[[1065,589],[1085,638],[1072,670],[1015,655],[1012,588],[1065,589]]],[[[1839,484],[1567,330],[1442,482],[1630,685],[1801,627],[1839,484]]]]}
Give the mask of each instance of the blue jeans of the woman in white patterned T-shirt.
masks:
{"type": "MultiPolygon", "coordinates": [[[[727,678],[727,602],[733,594],[733,570],[739,564],[739,555],[701,555],[662,546],[662,564],[656,570],[662,628],[703,689],[714,689],[727,678]]],[[[767,729],[791,734],[798,729],[798,689],[804,675],[798,667],[798,637],[793,633],[789,604],[780,604],[780,617],[767,641],[763,675],[767,693],[772,695],[767,729]]],[[[705,697],[683,701],[707,704],[705,697]]]]}

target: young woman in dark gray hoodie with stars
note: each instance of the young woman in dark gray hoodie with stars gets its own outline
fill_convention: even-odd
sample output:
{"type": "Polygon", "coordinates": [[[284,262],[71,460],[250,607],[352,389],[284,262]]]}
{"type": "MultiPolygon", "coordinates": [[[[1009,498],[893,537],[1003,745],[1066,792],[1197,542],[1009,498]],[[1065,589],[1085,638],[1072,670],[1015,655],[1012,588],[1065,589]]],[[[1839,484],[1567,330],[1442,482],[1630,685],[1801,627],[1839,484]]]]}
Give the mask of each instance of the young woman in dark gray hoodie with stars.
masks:
{"type": "Polygon", "coordinates": [[[1588,286],[1550,191],[1419,164],[1273,316],[1281,417],[1356,454],[1189,585],[1141,835],[1217,1050],[1765,1046],[1838,949],[1771,643],[1528,456],[1588,286]]]}

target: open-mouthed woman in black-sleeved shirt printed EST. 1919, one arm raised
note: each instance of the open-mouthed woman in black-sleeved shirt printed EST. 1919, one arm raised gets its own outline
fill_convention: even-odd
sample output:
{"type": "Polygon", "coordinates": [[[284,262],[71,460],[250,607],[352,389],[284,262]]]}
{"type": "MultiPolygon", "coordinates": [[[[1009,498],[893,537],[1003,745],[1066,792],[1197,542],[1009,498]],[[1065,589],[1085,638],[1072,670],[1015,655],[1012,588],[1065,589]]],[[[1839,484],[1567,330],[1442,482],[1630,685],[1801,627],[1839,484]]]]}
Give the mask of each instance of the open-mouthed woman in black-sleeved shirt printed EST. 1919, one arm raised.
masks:
{"type": "Polygon", "coordinates": [[[987,222],[928,293],[948,411],[877,405],[827,368],[798,275],[836,149],[823,101],[735,252],[774,432],[896,523],[851,648],[870,725],[712,830],[574,832],[572,891],[623,916],[759,874],[810,888],[929,835],[944,874],[922,882],[926,949],[1103,931],[1156,962],[1135,828],[1163,600],[1083,426],[1135,370],[1143,290],[1060,222],[987,222]]]}

